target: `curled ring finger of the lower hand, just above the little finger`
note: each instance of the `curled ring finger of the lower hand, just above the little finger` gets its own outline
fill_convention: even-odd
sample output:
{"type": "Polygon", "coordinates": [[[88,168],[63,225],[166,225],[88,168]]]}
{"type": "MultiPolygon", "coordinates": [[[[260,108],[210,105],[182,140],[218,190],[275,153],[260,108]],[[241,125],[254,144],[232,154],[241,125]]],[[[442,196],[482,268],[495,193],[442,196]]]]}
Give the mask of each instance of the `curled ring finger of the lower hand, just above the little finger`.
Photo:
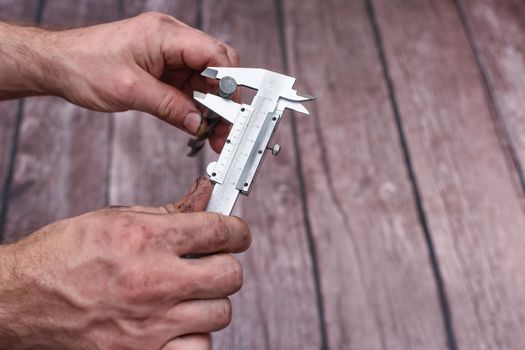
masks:
{"type": "Polygon", "coordinates": [[[232,305],[228,298],[187,300],[175,305],[166,316],[177,334],[209,333],[230,324],[232,305]]]}

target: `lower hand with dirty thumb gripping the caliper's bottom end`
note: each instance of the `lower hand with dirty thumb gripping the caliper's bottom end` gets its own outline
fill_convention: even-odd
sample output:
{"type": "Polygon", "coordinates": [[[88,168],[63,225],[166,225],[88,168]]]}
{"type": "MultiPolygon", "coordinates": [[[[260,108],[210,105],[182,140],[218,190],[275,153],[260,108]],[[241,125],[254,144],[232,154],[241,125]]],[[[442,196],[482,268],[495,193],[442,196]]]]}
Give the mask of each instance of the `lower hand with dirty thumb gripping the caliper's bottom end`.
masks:
{"type": "Polygon", "coordinates": [[[209,349],[242,284],[230,253],[250,244],[240,219],[197,212],[210,190],[201,178],[177,204],[103,209],[0,247],[0,348],[209,349]]]}

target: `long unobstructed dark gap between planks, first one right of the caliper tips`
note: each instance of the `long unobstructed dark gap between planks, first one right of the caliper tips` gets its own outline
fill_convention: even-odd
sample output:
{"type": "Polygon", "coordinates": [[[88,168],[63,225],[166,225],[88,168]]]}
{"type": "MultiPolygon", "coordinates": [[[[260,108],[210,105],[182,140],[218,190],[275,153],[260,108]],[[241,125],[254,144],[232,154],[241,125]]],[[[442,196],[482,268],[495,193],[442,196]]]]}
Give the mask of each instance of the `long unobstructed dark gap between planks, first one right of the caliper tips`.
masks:
{"type": "Polygon", "coordinates": [[[403,150],[403,157],[404,157],[406,169],[408,172],[408,177],[412,185],[412,191],[413,191],[414,201],[416,203],[417,214],[419,216],[421,228],[424,232],[425,241],[428,247],[429,260],[432,266],[432,271],[434,273],[434,279],[436,281],[437,292],[438,292],[438,297],[439,297],[439,305],[441,306],[441,311],[443,314],[443,323],[444,323],[444,327],[446,330],[448,346],[450,350],[456,350],[457,349],[456,336],[454,334],[454,328],[452,326],[452,313],[450,310],[450,305],[449,305],[447,293],[445,290],[445,283],[443,281],[443,276],[441,274],[439,262],[436,257],[434,243],[432,241],[432,235],[430,233],[426,213],[422,205],[419,185],[417,183],[417,178],[414,172],[414,168],[412,166],[412,160],[410,158],[410,150],[409,150],[409,147],[406,141],[406,136],[405,136],[405,132],[403,128],[403,121],[401,120],[401,113],[399,111],[394,86],[392,84],[392,77],[390,76],[388,60],[384,52],[379,24],[375,16],[374,5],[372,3],[372,0],[364,0],[364,1],[366,4],[368,17],[370,20],[370,26],[372,27],[372,30],[374,33],[374,39],[376,41],[377,54],[379,56],[379,60],[381,61],[381,65],[383,67],[383,75],[385,79],[385,84],[388,89],[388,96],[390,99],[390,104],[392,106],[392,112],[395,116],[395,122],[396,122],[397,130],[399,133],[399,140],[400,140],[401,148],[403,150]]]}

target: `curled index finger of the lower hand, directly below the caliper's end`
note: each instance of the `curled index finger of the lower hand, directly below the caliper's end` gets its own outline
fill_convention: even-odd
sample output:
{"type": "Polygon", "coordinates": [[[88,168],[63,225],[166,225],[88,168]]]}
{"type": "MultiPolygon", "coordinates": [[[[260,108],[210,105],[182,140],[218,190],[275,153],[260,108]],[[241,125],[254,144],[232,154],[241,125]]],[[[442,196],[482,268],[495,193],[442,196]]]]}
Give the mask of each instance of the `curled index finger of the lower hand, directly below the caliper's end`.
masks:
{"type": "Polygon", "coordinates": [[[251,243],[250,230],[243,220],[208,212],[180,216],[177,227],[171,227],[165,234],[173,236],[168,241],[174,242],[179,256],[240,253],[248,249],[251,243]]]}

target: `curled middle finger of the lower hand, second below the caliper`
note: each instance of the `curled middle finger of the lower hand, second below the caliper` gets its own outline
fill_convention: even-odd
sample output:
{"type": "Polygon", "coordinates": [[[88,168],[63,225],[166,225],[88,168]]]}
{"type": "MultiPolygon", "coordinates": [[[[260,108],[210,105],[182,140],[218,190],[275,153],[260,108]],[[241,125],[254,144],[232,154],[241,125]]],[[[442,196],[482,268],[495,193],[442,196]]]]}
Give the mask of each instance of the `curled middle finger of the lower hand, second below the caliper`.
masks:
{"type": "Polygon", "coordinates": [[[178,293],[179,300],[225,298],[242,287],[242,265],[231,254],[185,259],[182,263],[186,288],[178,293]]]}

